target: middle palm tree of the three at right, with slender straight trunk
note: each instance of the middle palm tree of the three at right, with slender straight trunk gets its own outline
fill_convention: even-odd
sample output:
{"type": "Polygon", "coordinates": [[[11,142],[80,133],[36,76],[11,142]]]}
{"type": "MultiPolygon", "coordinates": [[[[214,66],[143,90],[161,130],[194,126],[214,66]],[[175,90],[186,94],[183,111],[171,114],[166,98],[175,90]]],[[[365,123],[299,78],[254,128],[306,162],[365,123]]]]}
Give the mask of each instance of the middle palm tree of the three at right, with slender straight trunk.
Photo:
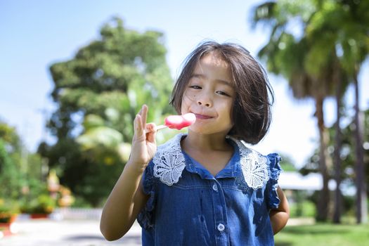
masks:
{"type": "MultiPolygon", "coordinates": [[[[344,72],[342,65],[337,56],[337,39],[339,36],[339,30],[342,26],[342,10],[337,8],[337,4],[324,4],[318,5],[318,13],[313,15],[310,19],[309,25],[306,28],[306,36],[309,39],[314,40],[315,44],[313,46],[314,52],[321,53],[325,50],[330,50],[330,57],[322,57],[323,59],[318,59],[318,63],[326,64],[329,67],[328,70],[322,71],[328,75],[327,79],[330,79],[335,86],[335,98],[336,98],[336,115],[337,120],[335,122],[335,152],[334,152],[334,177],[336,181],[335,199],[334,199],[334,212],[333,212],[333,222],[340,223],[340,218],[342,214],[342,193],[340,190],[340,184],[342,180],[342,167],[341,167],[341,104],[342,104],[342,92],[346,91],[348,85],[348,79],[346,72],[344,72]]],[[[328,55],[328,54],[326,54],[328,55]]],[[[309,59],[309,58],[308,58],[309,59]]],[[[311,62],[315,60],[315,57],[311,59],[311,62]]],[[[318,64],[318,67],[321,65],[318,64]]]]}

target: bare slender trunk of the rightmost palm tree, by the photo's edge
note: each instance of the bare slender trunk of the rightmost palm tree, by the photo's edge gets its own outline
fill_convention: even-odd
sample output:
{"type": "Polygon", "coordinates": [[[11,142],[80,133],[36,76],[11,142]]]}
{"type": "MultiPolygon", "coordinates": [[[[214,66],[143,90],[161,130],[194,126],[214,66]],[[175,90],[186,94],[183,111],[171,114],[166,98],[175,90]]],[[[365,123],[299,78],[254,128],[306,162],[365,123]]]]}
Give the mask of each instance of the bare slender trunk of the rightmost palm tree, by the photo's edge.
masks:
{"type": "Polygon", "coordinates": [[[359,108],[358,77],[354,76],[355,86],[355,148],[356,148],[356,223],[368,221],[366,202],[365,166],[363,153],[363,113],[359,108]]]}

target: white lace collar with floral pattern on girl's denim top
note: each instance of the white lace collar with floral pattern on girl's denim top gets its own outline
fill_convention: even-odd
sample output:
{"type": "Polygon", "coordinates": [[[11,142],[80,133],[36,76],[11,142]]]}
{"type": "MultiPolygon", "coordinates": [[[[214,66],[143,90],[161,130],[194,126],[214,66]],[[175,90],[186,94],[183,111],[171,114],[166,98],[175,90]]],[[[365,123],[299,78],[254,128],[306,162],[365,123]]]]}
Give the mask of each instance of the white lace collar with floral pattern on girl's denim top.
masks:
{"type": "MultiPolygon", "coordinates": [[[[153,158],[154,176],[168,186],[179,181],[186,160],[181,150],[181,138],[186,134],[177,134],[157,148],[153,158]]],[[[247,148],[242,141],[231,138],[240,150],[240,164],[247,186],[257,190],[269,179],[268,159],[255,150],[247,148]]]]}

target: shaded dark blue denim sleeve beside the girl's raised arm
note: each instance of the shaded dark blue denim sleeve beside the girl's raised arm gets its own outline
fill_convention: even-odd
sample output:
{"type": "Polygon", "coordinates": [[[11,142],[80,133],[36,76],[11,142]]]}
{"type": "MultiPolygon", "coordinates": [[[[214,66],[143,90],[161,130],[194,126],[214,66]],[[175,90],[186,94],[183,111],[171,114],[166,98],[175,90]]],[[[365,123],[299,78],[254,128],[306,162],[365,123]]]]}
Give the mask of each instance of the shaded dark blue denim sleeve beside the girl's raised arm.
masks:
{"type": "Polygon", "coordinates": [[[153,176],[153,162],[150,162],[143,172],[142,182],[143,193],[150,195],[150,198],[148,198],[145,207],[138,214],[137,221],[142,228],[148,229],[153,227],[154,224],[155,181],[153,176]]]}

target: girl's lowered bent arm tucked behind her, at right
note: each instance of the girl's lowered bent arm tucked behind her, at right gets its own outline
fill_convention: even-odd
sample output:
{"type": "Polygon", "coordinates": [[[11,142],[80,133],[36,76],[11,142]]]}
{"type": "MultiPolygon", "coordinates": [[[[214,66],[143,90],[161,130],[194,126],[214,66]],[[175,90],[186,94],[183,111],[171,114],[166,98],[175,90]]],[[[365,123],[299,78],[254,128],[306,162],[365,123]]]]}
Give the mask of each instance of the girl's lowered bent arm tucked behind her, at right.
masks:
{"type": "Polygon", "coordinates": [[[287,224],[288,218],[290,218],[290,206],[288,205],[285,193],[278,186],[277,188],[278,198],[280,200],[277,209],[272,209],[269,213],[271,218],[271,227],[273,229],[273,234],[276,235],[280,230],[287,224]]]}

